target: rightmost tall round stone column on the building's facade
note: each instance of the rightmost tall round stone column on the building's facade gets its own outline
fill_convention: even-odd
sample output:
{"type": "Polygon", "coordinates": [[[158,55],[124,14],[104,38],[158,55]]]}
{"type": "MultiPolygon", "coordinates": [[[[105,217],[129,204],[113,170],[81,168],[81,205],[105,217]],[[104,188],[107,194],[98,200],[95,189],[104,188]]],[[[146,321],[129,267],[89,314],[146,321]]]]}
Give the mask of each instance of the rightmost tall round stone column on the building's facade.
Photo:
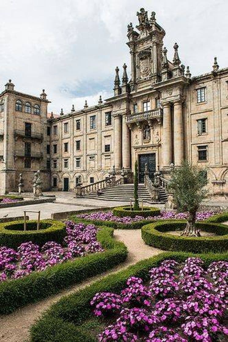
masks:
{"type": "Polygon", "coordinates": [[[183,153],[183,118],[182,104],[174,102],[174,165],[181,165],[183,153]]]}

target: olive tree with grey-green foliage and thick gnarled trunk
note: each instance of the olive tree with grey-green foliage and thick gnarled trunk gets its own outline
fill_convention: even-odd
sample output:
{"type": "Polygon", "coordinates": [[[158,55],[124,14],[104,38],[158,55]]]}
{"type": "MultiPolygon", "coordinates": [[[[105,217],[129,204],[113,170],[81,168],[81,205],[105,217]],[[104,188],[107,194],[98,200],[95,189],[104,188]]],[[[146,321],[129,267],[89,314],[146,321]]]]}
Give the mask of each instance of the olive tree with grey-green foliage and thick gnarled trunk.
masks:
{"type": "Polygon", "coordinates": [[[200,203],[207,194],[206,184],[206,169],[191,165],[187,160],[171,172],[168,189],[173,194],[178,211],[188,212],[188,222],[182,235],[200,236],[195,218],[200,203]]]}

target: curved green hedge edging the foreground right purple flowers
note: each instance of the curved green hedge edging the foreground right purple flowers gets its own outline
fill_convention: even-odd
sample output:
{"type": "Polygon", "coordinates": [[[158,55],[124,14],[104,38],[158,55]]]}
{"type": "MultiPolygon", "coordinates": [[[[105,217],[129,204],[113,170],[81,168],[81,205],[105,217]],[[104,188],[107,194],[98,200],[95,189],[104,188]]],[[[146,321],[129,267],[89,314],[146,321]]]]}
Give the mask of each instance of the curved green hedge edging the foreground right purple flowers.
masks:
{"type": "Polygon", "coordinates": [[[207,267],[211,262],[228,260],[228,253],[224,254],[193,254],[183,252],[165,252],[144,259],[116,274],[111,274],[94,282],[90,286],[76,293],[61,298],[54,303],[48,311],[31,327],[32,342],[93,342],[94,338],[80,325],[93,317],[90,301],[97,292],[107,291],[120,293],[130,276],[149,279],[149,269],[159,266],[165,259],[174,259],[184,262],[188,257],[200,257],[207,267]]]}

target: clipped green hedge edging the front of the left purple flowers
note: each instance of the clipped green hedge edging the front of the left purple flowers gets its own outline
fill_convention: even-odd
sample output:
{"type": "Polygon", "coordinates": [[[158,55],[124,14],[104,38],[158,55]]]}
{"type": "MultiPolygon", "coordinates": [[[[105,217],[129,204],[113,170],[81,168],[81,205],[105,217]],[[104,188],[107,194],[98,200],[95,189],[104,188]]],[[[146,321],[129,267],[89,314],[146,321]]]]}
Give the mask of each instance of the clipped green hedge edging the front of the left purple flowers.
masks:
{"type": "Polygon", "coordinates": [[[123,242],[113,239],[113,229],[102,227],[97,238],[105,249],[102,253],[89,254],[42,272],[33,272],[23,278],[0,283],[0,314],[9,314],[126,260],[127,247],[123,242]]]}

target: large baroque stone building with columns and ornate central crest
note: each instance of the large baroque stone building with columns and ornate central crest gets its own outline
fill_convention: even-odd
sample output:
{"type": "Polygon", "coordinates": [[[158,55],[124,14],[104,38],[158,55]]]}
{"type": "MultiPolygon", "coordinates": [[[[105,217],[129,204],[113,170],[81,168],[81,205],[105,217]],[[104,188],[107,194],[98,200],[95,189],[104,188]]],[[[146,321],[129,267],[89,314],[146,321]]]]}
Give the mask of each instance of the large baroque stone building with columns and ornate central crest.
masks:
{"type": "Polygon", "coordinates": [[[163,47],[165,31],[157,24],[155,13],[149,18],[147,11],[140,9],[137,16],[137,30],[132,23],[127,29],[131,77],[128,79],[124,64],[120,79],[116,67],[114,94],[105,102],[100,98],[92,107],[85,103],[82,110],[73,106],[70,113],[61,111],[59,117],[52,115],[47,120],[48,101],[44,92],[36,98],[15,93],[11,82],[6,85],[0,95],[0,101],[4,101],[0,172],[4,177],[9,175],[10,182],[4,185],[2,176],[3,189],[15,188],[18,172],[25,172],[26,158],[23,164],[21,156],[10,151],[16,151],[16,139],[27,139],[21,135],[17,138],[15,130],[22,130],[21,125],[30,120],[37,132],[42,133],[41,140],[30,137],[31,148],[37,141],[43,154],[40,159],[31,156],[31,169],[26,172],[29,174],[39,166],[47,188],[73,190],[78,183],[87,185],[103,180],[113,165],[117,175],[124,168],[131,182],[136,160],[140,182],[145,163],[151,179],[157,169],[167,179],[170,165],[178,166],[188,159],[208,167],[212,193],[228,193],[228,68],[219,69],[215,57],[208,74],[191,77],[189,67],[181,64],[177,43],[169,53],[172,61],[168,59],[167,49],[163,47]],[[39,105],[40,116],[26,110],[23,115],[18,113],[17,100],[22,101],[22,106],[29,101],[34,109],[35,104],[39,105]],[[14,123],[10,122],[12,136],[9,136],[12,114],[14,123]],[[18,115],[19,128],[15,126],[18,115]]]}

